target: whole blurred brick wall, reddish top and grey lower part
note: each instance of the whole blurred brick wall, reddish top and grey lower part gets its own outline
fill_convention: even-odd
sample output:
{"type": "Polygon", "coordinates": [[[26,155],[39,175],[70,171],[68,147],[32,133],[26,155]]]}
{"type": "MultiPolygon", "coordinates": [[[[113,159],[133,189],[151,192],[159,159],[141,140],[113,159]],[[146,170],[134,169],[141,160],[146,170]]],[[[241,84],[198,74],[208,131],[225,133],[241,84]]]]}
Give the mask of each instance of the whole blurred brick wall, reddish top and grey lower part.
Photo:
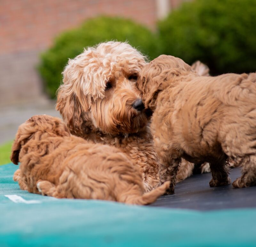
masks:
{"type": "MultiPolygon", "coordinates": [[[[173,8],[184,0],[166,1],[173,8]]],[[[38,56],[61,31],[102,14],[154,29],[156,7],[156,0],[0,0],[0,105],[42,94],[38,56]]]]}

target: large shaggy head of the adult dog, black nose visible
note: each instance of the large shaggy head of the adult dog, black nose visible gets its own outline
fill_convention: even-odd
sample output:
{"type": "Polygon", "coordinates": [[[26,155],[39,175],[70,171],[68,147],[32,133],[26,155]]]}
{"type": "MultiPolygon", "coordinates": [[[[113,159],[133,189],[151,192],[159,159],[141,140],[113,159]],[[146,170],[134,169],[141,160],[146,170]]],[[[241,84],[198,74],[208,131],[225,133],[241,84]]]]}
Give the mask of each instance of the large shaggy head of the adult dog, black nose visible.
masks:
{"type": "Polygon", "coordinates": [[[112,41],[70,59],[56,109],[71,133],[119,134],[143,128],[148,118],[136,81],[145,64],[145,57],[129,44],[112,41]]]}

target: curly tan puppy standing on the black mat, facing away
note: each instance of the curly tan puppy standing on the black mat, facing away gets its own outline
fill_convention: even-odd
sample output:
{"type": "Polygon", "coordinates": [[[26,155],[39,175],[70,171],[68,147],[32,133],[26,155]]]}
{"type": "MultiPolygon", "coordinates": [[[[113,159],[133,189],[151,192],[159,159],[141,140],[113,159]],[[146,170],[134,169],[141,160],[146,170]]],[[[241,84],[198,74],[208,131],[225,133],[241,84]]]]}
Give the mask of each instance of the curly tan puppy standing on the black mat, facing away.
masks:
{"type": "Polygon", "coordinates": [[[210,186],[229,184],[227,157],[242,165],[234,187],[256,184],[256,73],[198,76],[179,58],[146,65],[138,86],[150,108],[161,181],[174,191],[181,157],[210,163],[210,186]]]}

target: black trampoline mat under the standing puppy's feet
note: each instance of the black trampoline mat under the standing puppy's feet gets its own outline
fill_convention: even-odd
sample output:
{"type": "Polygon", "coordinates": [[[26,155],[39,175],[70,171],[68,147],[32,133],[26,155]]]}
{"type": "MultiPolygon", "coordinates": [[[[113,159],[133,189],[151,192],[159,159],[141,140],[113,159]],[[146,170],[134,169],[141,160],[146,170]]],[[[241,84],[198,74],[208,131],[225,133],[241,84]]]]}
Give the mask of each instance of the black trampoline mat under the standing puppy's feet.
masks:
{"type": "MultiPolygon", "coordinates": [[[[241,168],[230,171],[232,182],[241,175],[241,168]]],[[[175,194],[164,195],[149,206],[216,210],[256,207],[256,186],[235,189],[232,184],[211,188],[211,173],[196,174],[177,183],[175,194]]]]}

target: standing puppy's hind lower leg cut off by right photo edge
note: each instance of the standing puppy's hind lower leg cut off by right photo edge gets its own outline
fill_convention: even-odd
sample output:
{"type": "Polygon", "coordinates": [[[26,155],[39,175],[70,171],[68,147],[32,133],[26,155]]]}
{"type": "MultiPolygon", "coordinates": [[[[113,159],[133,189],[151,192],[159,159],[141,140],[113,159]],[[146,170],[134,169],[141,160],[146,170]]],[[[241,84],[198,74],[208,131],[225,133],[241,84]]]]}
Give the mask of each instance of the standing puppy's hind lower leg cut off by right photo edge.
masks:
{"type": "Polygon", "coordinates": [[[245,156],[241,164],[242,176],[233,182],[233,186],[235,188],[243,188],[256,185],[256,156],[245,156]]]}

